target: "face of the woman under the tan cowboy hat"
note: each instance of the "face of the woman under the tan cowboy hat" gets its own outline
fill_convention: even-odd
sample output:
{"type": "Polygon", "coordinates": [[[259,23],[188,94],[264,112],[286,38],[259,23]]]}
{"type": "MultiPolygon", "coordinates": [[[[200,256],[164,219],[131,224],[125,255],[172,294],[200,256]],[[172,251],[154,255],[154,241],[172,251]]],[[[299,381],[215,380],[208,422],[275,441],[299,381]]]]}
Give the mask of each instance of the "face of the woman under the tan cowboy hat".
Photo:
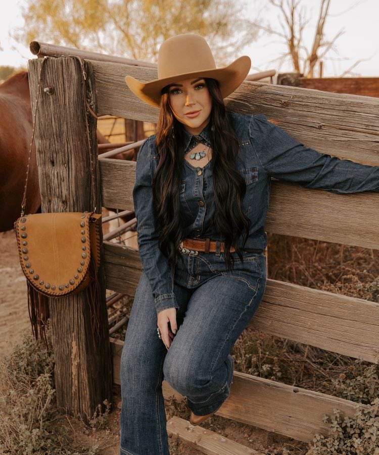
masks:
{"type": "Polygon", "coordinates": [[[173,114],[189,133],[199,134],[208,124],[212,98],[204,78],[170,84],[168,100],[173,114]]]}

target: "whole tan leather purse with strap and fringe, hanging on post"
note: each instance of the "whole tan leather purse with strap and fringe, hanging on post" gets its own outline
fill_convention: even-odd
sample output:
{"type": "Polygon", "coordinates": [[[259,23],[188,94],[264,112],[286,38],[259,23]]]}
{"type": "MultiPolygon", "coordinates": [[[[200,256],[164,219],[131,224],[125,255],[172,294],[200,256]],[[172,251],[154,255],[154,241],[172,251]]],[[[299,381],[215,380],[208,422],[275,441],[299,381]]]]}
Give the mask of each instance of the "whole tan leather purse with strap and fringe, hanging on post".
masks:
{"type": "MultiPolygon", "coordinates": [[[[81,60],[78,58],[82,64],[81,60]]],[[[45,61],[45,60],[44,60],[45,61]]],[[[41,65],[41,72],[43,63],[41,65]]],[[[41,74],[35,106],[33,134],[29,150],[29,161],[35,131],[41,74]]],[[[83,97],[84,81],[83,81],[83,97]]],[[[87,105],[87,104],[86,104],[87,105]]],[[[87,119],[87,117],[85,116],[87,119]]],[[[21,216],[15,221],[19,259],[27,279],[28,308],[32,331],[45,343],[45,326],[49,319],[49,298],[59,299],[68,294],[77,294],[87,289],[87,301],[91,315],[92,338],[100,334],[100,286],[98,270],[100,264],[101,214],[96,213],[94,195],[93,164],[87,123],[87,140],[90,156],[93,211],[24,214],[29,165],[26,174],[21,216]]],[[[54,304],[59,304],[58,301],[54,304]]]]}

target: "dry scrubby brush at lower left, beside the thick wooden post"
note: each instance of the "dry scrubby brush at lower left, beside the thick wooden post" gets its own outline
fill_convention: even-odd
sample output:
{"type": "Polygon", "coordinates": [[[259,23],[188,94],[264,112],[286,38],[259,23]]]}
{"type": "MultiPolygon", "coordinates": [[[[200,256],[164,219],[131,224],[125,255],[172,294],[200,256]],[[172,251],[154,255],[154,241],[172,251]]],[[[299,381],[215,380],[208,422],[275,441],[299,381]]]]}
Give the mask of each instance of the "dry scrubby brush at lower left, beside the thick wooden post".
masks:
{"type": "MultiPolygon", "coordinates": [[[[56,408],[54,356],[31,335],[0,359],[0,454],[94,455],[78,448],[56,408]]],[[[94,416],[93,425],[98,422],[94,416]]]]}

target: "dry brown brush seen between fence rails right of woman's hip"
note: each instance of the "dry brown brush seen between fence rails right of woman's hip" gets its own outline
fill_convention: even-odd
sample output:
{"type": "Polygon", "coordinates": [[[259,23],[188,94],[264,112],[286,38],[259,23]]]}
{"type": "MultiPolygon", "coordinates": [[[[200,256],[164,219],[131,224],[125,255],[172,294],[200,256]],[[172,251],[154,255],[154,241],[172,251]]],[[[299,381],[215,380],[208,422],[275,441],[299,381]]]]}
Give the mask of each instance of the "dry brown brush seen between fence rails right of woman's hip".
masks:
{"type": "Polygon", "coordinates": [[[379,251],[268,235],[268,278],[378,302],[379,251]],[[368,291],[368,292],[367,292],[368,291]]]}

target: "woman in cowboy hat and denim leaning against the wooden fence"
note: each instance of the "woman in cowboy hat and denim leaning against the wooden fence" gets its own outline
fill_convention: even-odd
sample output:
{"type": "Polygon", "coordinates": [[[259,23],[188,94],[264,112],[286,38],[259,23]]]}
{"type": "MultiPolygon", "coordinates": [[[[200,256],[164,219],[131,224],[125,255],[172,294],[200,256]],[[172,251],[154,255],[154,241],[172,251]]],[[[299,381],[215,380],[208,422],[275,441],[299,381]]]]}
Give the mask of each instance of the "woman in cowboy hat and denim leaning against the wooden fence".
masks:
{"type": "Polygon", "coordinates": [[[251,67],[216,68],[203,37],[159,50],[158,79],[126,76],[159,107],[133,189],[143,264],[121,358],[121,453],[169,453],[162,380],[186,396],[193,425],[230,393],[230,350],[266,285],[270,177],[335,193],[379,191],[379,167],[307,149],[262,114],[227,112],[223,98],[251,67]]]}

